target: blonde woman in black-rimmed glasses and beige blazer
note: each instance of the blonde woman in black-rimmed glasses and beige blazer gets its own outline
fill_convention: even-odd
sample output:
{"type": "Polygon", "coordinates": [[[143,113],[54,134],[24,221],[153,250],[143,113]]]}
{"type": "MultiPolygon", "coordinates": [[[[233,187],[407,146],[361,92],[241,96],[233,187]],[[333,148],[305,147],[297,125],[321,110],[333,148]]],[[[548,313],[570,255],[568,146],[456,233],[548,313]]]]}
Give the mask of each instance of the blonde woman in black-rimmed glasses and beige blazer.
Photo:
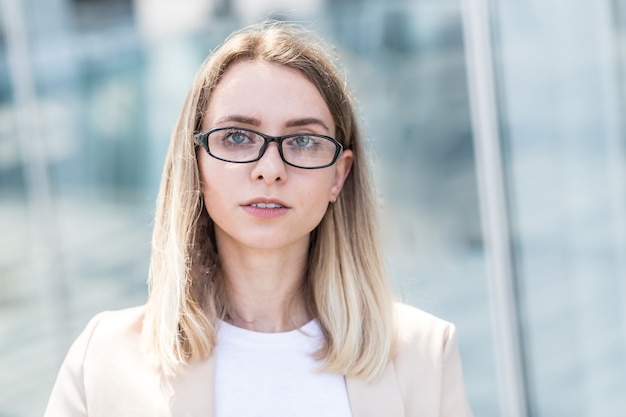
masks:
{"type": "Polygon", "coordinates": [[[343,77],[292,25],[202,65],[145,306],[96,316],[46,416],[469,416],[454,326],[394,304],[343,77]]]}

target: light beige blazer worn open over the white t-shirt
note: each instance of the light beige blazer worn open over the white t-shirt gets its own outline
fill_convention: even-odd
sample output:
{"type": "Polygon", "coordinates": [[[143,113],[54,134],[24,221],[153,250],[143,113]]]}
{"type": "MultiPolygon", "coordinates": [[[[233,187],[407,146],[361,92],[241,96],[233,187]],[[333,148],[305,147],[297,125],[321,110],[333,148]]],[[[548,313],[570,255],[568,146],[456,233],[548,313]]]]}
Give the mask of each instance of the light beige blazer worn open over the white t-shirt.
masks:
{"type": "MultiPolygon", "coordinates": [[[[214,359],[166,381],[140,348],[144,308],[94,317],[70,348],[45,417],[214,417],[214,359]]],[[[346,378],[353,417],[470,417],[454,325],[396,305],[398,347],[380,378],[346,378]]],[[[245,416],[242,416],[245,417],[245,416]]]]}

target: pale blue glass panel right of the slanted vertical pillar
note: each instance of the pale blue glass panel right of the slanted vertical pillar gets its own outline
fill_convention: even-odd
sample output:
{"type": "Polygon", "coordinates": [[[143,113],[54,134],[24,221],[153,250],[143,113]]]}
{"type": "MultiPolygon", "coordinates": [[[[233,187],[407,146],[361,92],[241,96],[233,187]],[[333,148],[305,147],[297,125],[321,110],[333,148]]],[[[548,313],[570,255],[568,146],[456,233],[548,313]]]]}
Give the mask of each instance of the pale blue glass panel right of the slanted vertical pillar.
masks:
{"type": "Polygon", "coordinates": [[[626,113],[616,2],[496,3],[530,409],[624,415],[626,113]]]}

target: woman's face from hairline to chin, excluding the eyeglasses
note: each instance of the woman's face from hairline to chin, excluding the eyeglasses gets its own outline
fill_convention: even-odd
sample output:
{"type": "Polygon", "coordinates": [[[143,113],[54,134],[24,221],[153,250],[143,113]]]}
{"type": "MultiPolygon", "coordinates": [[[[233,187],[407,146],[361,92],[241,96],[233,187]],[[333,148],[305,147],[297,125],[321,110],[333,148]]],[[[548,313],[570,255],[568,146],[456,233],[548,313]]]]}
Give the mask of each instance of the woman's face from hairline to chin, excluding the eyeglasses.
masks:
{"type": "MultiPolygon", "coordinates": [[[[240,127],[271,136],[335,136],[328,106],[307,78],[256,61],[239,62],[226,70],[203,120],[203,130],[240,127]]],[[[205,206],[220,248],[308,247],[309,234],[329,202],[337,198],[352,164],[352,152],[344,150],[327,168],[292,167],[281,160],[276,143],[251,163],[224,162],[203,148],[197,155],[205,206]]]]}

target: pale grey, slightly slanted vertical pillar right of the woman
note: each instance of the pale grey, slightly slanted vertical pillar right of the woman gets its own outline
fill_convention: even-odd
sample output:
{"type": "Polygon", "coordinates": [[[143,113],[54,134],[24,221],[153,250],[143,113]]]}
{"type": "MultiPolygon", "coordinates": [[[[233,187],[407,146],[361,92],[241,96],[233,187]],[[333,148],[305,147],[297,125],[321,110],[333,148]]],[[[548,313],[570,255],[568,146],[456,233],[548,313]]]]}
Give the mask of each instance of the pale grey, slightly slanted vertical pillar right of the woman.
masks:
{"type": "Polygon", "coordinates": [[[496,337],[501,415],[527,417],[512,245],[498,123],[489,0],[462,0],[485,262],[496,337]]]}

